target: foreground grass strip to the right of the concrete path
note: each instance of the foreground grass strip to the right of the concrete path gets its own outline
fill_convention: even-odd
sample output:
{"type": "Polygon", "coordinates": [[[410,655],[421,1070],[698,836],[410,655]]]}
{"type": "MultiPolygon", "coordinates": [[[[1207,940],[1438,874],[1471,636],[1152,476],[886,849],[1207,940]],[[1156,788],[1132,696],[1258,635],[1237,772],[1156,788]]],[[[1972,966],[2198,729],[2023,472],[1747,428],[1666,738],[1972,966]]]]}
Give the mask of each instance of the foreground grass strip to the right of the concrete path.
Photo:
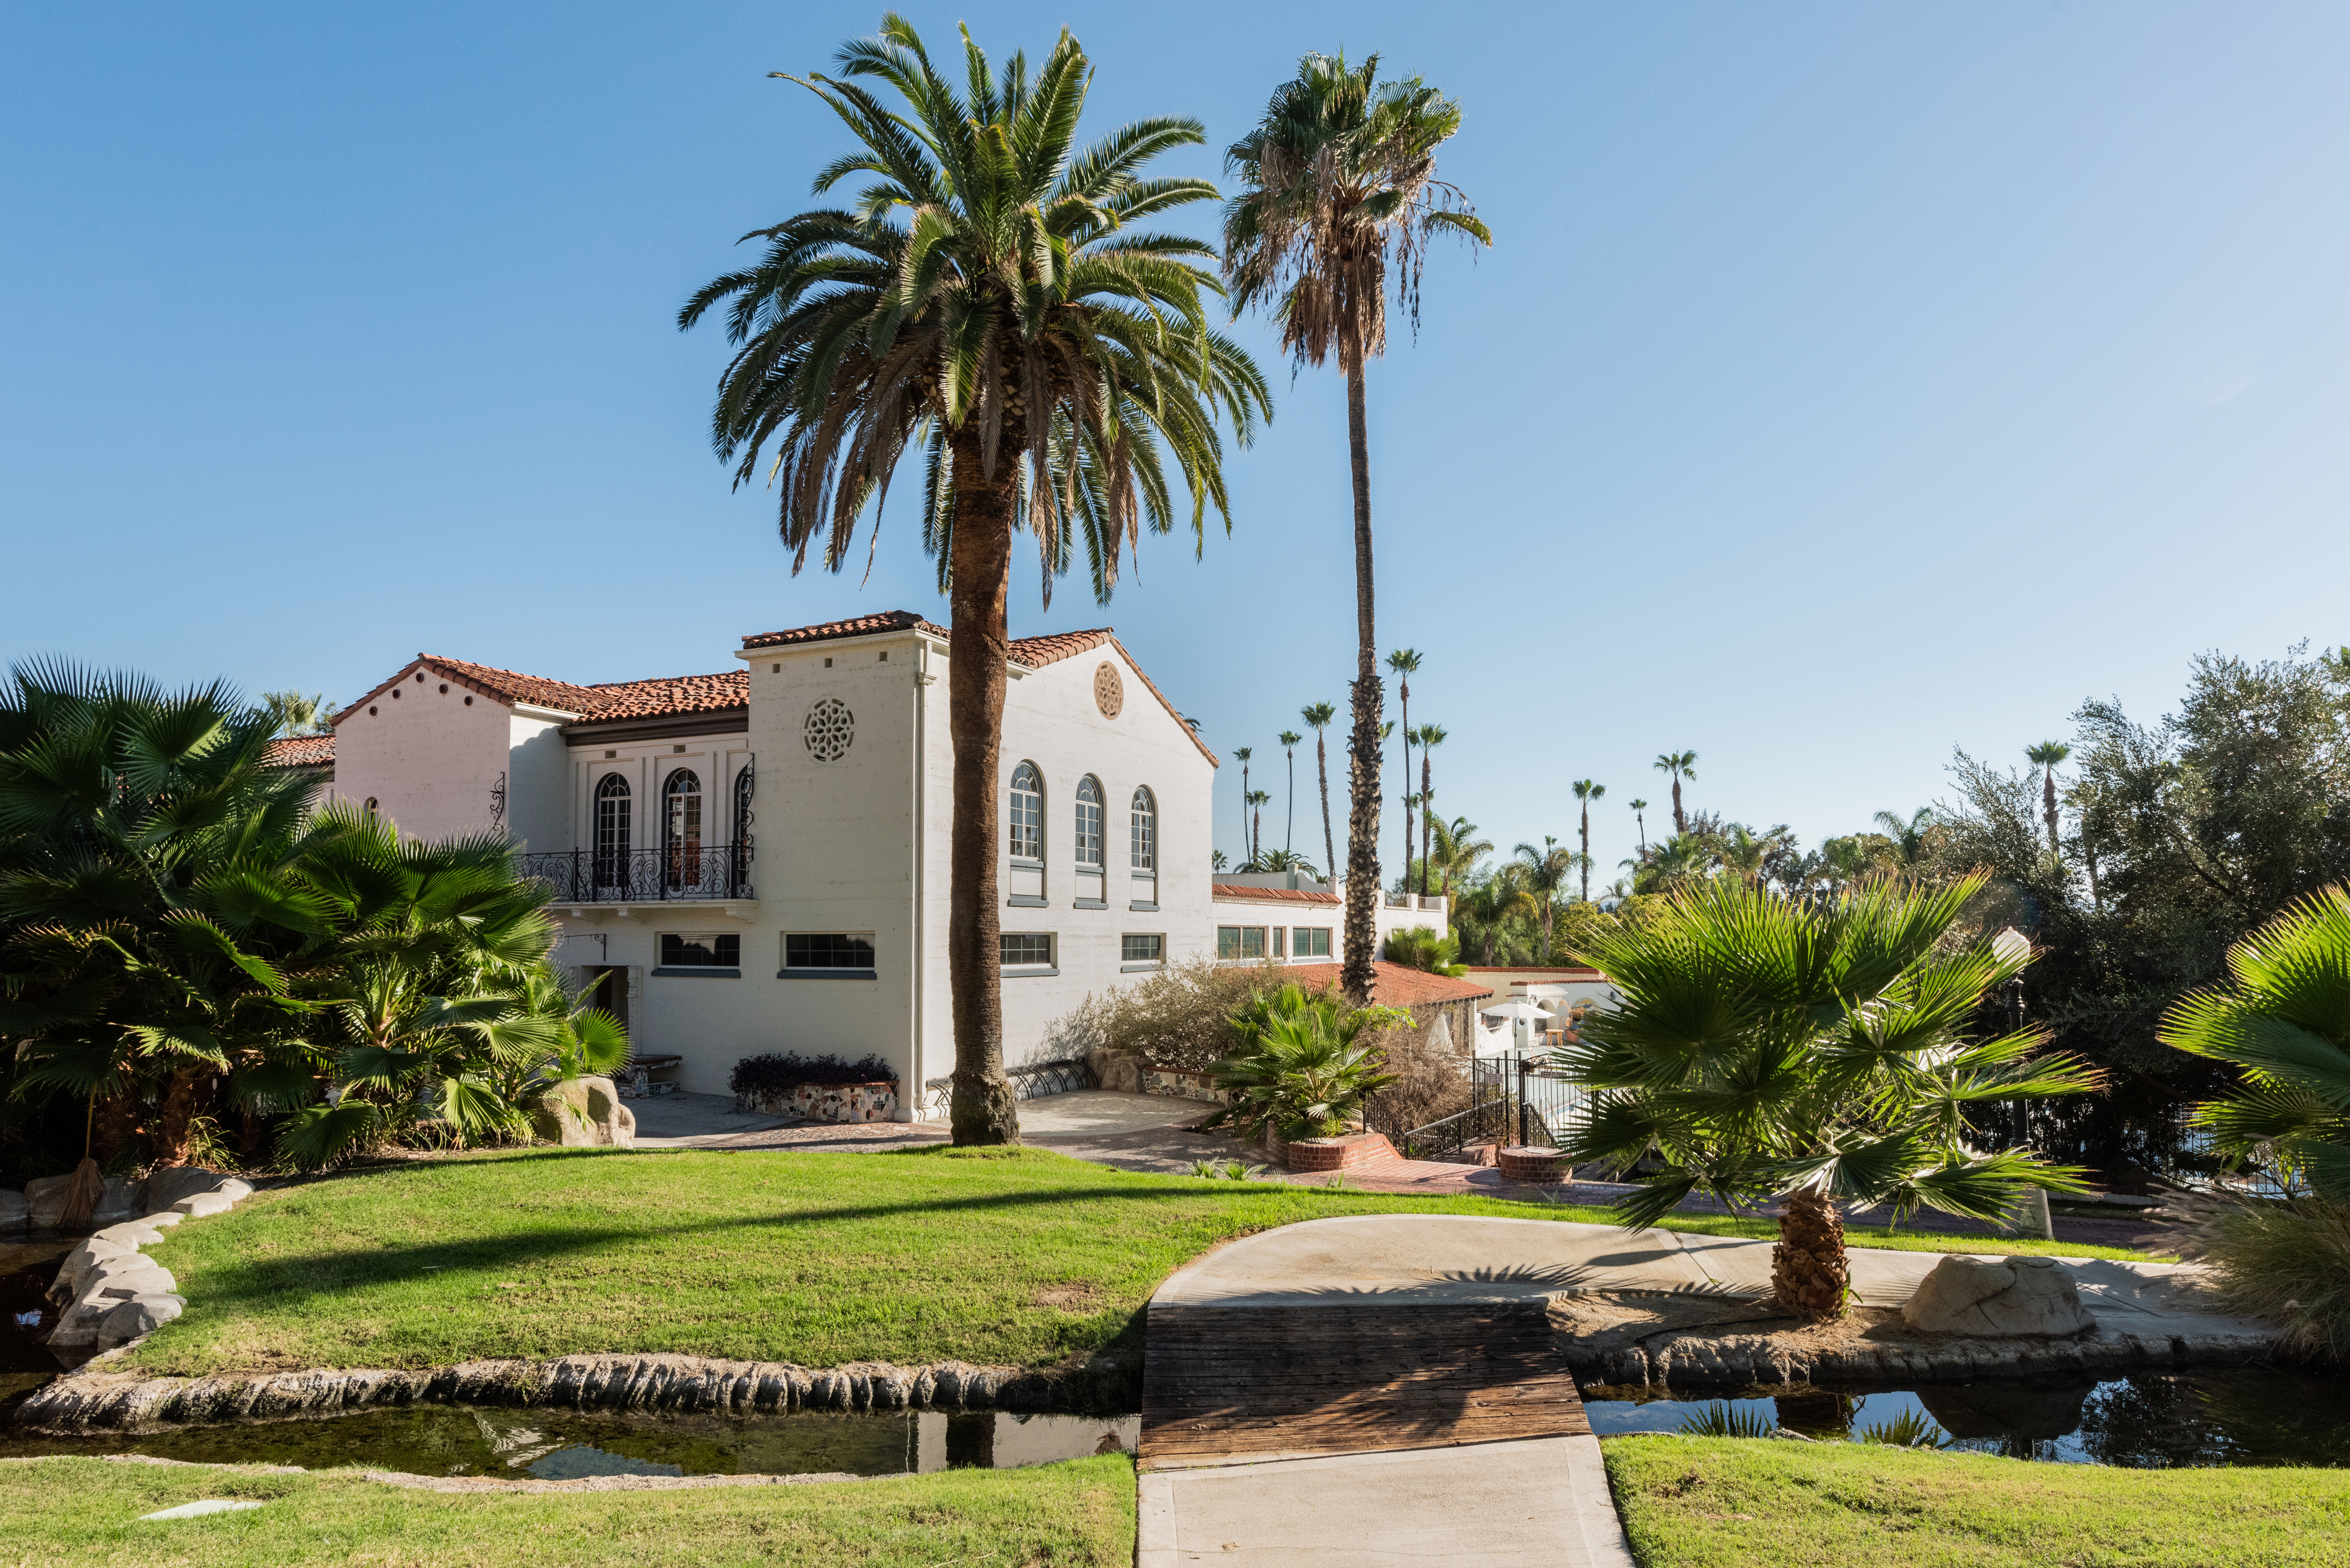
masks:
{"type": "Polygon", "coordinates": [[[2350,1561],[2343,1469],[2106,1469],[1687,1436],[1612,1436],[1600,1448],[1643,1568],[2350,1561]]]}

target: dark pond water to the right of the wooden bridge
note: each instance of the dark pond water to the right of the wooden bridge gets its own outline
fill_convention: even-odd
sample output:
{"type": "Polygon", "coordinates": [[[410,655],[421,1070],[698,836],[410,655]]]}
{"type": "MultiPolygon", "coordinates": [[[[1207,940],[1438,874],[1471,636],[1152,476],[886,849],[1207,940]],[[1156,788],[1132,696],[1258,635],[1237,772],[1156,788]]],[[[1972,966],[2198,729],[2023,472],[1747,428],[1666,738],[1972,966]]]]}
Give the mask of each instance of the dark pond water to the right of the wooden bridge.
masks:
{"type": "Polygon", "coordinates": [[[1793,1385],[1701,1399],[1584,1389],[1591,1429],[1680,1432],[1723,1413],[1762,1432],[1852,1439],[1904,1418],[1953,1448],[2061,1465],[2174,1469],[2209,1465],[2350,1465],[2350,1378],[2282,1368],[2209,1368],[2070,1382],[1793,1385]]]}

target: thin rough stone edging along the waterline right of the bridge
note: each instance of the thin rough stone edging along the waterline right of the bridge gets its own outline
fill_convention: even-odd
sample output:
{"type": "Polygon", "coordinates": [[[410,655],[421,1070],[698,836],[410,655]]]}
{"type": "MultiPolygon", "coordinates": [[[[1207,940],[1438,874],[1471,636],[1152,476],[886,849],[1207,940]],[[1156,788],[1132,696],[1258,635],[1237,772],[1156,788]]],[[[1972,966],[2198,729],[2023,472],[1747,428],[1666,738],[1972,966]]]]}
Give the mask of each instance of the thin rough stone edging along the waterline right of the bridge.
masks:
{"type": "Polygon", "coordinates": [[[1770,1335],[1654,1335],[1643,1345],[1591,1347],[1563,1340],[1582,1385],[1744,1387],[1772,1382],[1967,1382],[2155,1373],[2188,1366],[2249,1366],[2277,1354],[2270,1335],[2134,1335],[2099,1331],[2087,1340],[1948,1340],[1934,1347],[1791,1352],[1770,1335]],[[1582,1352],[1582,1354],[1577,1354],[1582,1352]]]}

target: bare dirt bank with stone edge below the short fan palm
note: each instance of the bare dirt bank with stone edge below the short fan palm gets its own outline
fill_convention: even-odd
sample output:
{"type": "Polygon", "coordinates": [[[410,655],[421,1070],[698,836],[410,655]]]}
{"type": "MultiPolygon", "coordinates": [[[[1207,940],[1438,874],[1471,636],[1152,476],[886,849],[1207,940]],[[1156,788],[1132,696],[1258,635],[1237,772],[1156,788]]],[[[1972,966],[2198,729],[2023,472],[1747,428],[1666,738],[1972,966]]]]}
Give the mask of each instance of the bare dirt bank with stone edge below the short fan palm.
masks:
{"type": "Polygon", "coordinates": [[[2131,1333],[2108,1321],[2068,1338],[1993,1340],[1922,1333],[1889,1307],[1852,1307],[1833,1324],[1802,1324],[1767,1302],[1706,1295],[1556,1295],[1551,1326],[1586,1387],[1972,1382],[2277,1361],[2275,1333],[2235,1328],[2131,1333]]]}

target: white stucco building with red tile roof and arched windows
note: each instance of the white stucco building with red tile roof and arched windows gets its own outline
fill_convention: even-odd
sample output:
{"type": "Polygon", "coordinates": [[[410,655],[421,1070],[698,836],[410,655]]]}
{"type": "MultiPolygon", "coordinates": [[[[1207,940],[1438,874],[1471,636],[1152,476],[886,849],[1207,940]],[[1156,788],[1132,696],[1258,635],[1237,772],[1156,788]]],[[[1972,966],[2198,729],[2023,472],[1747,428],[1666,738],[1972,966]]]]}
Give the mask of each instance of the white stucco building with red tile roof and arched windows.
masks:
{"type": "MultiPolygon", "coordinates": [[[[745,1056],[867,1053],[900,1103],[954,1060],[947,630],[909,611],[745,637],[717,675],[576,686],[418,656],[284,762],[402,835],[503,827],[557,961],[609,971],[639,1053],[724,1093],[745,1056]]],[[[1003,1039],[1194,954],[1330,964],[1321,884],[1215,886],[1217,759],[1107,628],[1010,644],[999,780],[1003,1039]]],[[[1241,879],[1248,882],[1248,879],[1241,879]]],[[[1434,924],[1441,900],[1382,907],[1434,924]]],[[[1382,900],[1384,905],[1384,900],[1382,900]]]]}

